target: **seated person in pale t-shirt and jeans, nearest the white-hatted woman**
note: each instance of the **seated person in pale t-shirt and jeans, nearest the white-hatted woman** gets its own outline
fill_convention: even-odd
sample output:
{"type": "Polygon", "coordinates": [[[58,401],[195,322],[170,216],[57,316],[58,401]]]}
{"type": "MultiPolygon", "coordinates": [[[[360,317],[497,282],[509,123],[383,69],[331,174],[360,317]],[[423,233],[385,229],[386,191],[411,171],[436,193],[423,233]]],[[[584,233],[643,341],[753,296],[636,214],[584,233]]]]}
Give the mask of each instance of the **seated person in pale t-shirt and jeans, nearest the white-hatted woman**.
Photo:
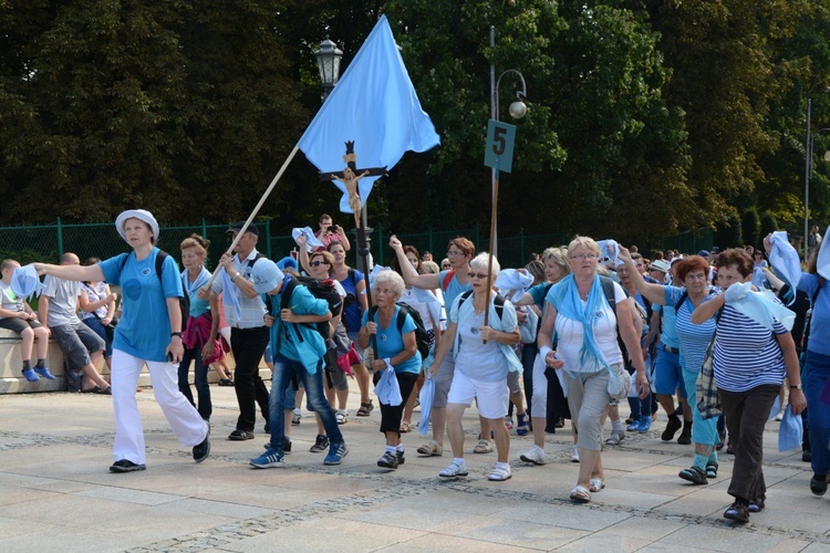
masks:
{"type": "MultiPolygon", "coordinates": [[[[68,252],[61,255],[61,264],[79,265],[81,261],[77,255],[68,252]]],[[[43,293],[38,304],[38,314],[52,332],[58,346],[66,357],[70,369],[76,367],[83,371],[84,382],[81,392],[112,395],[110,384],[95,369],[106,343],[77,317],[79,295],[81,295],[80,282],[48,275],[43,280],[43,293]]],[[[66,377],[69,378],[69,375],[66,377]]]]}

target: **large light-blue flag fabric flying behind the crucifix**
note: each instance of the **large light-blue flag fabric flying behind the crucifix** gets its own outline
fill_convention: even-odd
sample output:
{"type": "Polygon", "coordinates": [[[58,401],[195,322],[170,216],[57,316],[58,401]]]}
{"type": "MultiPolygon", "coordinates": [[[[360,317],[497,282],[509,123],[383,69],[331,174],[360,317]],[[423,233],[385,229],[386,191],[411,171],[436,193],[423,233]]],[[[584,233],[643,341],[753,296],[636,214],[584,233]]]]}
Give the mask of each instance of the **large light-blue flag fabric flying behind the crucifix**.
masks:
{"type": "MultiPolygon", "coordinates": [[[[429,115],[421,107],[386,15],[377,21],[298,146],[321,173],[340,171],[345,167],[345,143],[351,140],[359,169],[391,169],[406,150],[426,152],[440,144],[429,115]]],[[[357,182],[362,205],[377,178],[366,176],[357,182]]],[[[344,192],[341,211],[353,212],[345,186],[333,182],[344,192]]]]}

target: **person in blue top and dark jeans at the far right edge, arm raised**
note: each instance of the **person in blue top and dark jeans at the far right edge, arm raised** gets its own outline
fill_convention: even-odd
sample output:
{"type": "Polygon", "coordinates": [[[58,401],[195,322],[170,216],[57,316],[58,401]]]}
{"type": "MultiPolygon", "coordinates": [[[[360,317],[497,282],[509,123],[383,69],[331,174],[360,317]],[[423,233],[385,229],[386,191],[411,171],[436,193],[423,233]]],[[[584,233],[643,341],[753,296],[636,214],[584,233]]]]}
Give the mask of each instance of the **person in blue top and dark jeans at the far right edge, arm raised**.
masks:
{"type": "MultiPolygon", "coordinates": [[[[818,232],[818,227],[813,227],[813,229],[818,232]]],[[[764,248],[767,252],[772,251],[770,238],[768,236],[764,239],[764,248]]],[[[830,246],[822,241],[819,248],[819,254],[813,254],[810,258],[807,263],[807,271],[801,273],[797,286],[812,302],[810,326],[803,333],[806,357],[802,376],[805,395],[810,404],[810,408],[807,409],[808,424],[805,431],[808,432],[809,444],[817,445],[817,447],[812,447],[812,459],[810,460],[813,472],[810,479],[810,491],[816,495],[823,495],[827,493],[828,478],[830,477],[830,450],[821,446],[830,444],[830,405],[821,401],[819,397],[822,390],[827,388],[828,380],[830,380],[830,333],[819,332],[819,328],[827,328],[830,325],[830,280],[822,276],[822,274],[828,274],[828,268],[826,264],[819,267],[819,258],[822,261],[826,260],[826,250],[830,249],[830,246]],[[824,252],[824,255],[821,255],[821,252],[824,252]]],[[[793,380],[790,380],[790,387],[792,386],[793,380]]]]}

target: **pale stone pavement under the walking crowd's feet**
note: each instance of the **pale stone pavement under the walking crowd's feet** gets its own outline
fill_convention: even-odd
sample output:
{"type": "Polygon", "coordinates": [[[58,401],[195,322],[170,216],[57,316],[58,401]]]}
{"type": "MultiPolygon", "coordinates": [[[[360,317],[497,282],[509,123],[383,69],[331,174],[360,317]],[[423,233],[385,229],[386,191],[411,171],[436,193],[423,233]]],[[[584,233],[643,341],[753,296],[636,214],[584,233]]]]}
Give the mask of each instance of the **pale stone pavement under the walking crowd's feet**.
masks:
{"type": "MultiPolygon", "coordinates": [[[[350,405],[359,405],[355,390],[350,405]]],[[[490,482],[495,453],[474,455],[476,410],[465,417],[468,478],[446,480],[452,460],[419,457],[426,438],[404,435],[406,462],[376,466],[383,453],[380,413],[342,427],[350,448],[338,467],[308,451],[317,435],[304,411],[292,428],[287,466],[248,465],[268,437],[226,440],[235,428],[232,388],[211,386],[210,458],[196,465],[178,445],[153,390],[138,397],[147,470],[108,472],[114,420],[108,397],[86,394],[0,396],[0,551],[806,551],[830,552],[830,494],[813,497],[799,451],[777,451],[777,424],[765,432],[767,509],[749,524],[723,518],[732,456],[717,479],[677,478],[691,446],[660,439],[665,418],[646,435],[626,434],[603,452],[608,487],[591,503],[568,493],[578,465],[570,429],[549,435],[546,466],[519,455],[530,436],[511,431],[512,479],[490,482]]],[[[375,405],[377,404],[375,399],[375,405]]],[[[418,419],[415,413],[414,421],[418,419]]]]}

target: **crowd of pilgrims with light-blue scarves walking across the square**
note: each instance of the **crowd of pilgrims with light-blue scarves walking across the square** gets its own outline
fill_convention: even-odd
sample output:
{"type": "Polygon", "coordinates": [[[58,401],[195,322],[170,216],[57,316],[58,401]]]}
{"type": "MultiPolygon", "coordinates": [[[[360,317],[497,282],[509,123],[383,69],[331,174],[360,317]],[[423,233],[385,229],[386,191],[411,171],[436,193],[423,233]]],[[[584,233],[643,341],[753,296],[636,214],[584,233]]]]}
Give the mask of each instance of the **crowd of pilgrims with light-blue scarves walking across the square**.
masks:
{"type": "MultiPolygon", "coordinates": [[[[135,255],[93,264],[94,272],[35,264],[38,272],[129,284],[131,263],[154,267],[158,226],[143,210],[122,216],[118,232],[135,255]],[[136,228],[142,225],[145,232],[136,228]]],[[[466,452],[495,451],[488,479],[504,481],[511,461],[546,465],[546,435],[570,429],[570,459],[579,470],[569,497],[588,503],[605,488],[603,449],[613,451],[632,434],[658,435],[688,446],[691,466],[677,477],[692,484],[717,479],[719,456],[734,456],[727,490],[734,502],[724,517],[744,523],[766,507],[764,430],[775,420],[786,447],[801,448],[811,462],[811,492],[827,491],[830,247],[822,255],[819,241],[802,263],[782,232],[757,249],[653,251],[649,258],[634,246],[578,236],[522,268],[501,269],[463,237],[449,241],[437,263],[393,236],[392,267],[364,274],[346,264],[352,246],[328,215],[317,231],[295,229],[298,254],[278,262],[257,251],[256,225],[236,223],[228,232],[236,247],[222,254],[215,280],[205,268],[209,242],[194,234],[181,242],[180,279],[149,279],[153,271],[145,270],[138,289],[152,292],[122,298],[124,315],[108,347],[114,455],[127,470],[114,471],[145,468],[137,411],[120,415],[117,408],[135,403],[134,361],[147,361],[154,388],[166,390],[158,400],[181,444],[207,457],[207,373],[231,351],[239,417],[228,439],[253,439],[261,414],[270,440],[251,459],[256,468],[284,466],[303,401],[317,424],[311,452],[325,453],[325,465],[341,463],[351,413],[372,417],[376,403],[384,442],[377,466],[384,470],[405,462],[404,437],[418,430],[428,437],[416,453],[448,461],[436,467],[439,477],[467,476],[466,452]],[[154,316],[169,320],[169,342],[143,341],[141,325],[124,324],[134,316],[131,298],[148,293],[157,296],[154,316]],[[178,295],[189,299],[181,321],[168,301],[178,295]],[[260,377],[263,356],[270,392],[260,377]],[[131,369],[118,383],[120,361],[131,369]],[[350,383],[359,386],[359,406],[347,404],[350,383]],[[470,407],[479,419],[471,450],[461,424],[470,407]],[[511,431],[532,435],[518,461],[511,431]]],[[[220,376],[230,384],[230,373],[220,376]]]]}

